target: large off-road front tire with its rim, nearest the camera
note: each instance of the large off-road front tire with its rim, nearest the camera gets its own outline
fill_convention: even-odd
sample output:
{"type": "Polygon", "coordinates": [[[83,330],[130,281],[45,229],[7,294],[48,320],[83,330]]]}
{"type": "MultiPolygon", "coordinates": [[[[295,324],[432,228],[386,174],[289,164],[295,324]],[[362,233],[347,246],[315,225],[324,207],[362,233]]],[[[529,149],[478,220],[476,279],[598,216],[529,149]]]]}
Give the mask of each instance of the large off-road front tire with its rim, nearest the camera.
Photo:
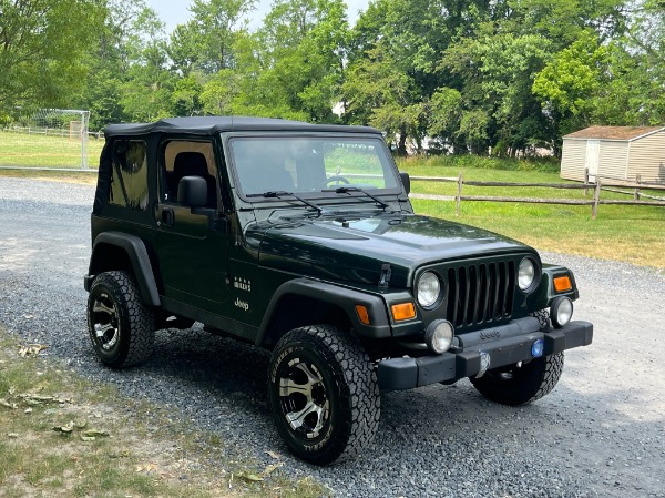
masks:
{"type": "Polygon", "coordinates": [[[379,426],[379,387],[367,353],[328,325],[282,337],[270,362],[268,399],[286,445],[316,465],[359,455],[379,426]]]}

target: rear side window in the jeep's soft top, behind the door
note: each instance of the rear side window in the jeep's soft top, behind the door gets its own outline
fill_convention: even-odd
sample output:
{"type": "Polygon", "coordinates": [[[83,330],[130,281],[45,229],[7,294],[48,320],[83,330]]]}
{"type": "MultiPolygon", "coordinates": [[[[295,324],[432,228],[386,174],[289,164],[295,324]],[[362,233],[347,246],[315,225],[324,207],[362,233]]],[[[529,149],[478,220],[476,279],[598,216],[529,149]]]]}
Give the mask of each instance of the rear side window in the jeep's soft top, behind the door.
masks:
{"type": "Polygon", "coordinates": [[[139,140],[113,144],[109,203],[136,211],[147,209],[147,148],[139,140]]]}

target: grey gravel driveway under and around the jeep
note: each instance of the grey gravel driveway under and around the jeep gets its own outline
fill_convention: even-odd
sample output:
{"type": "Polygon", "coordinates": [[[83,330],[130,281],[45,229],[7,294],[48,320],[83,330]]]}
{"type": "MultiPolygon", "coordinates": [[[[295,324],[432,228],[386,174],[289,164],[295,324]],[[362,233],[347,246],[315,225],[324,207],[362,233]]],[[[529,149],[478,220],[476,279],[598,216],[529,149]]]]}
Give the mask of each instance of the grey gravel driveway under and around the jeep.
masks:
{"type": "Polygon", "coordinates": [[[594,344],[566,352],[553,393],[521,408],[467,380],[385,394],[372,451],[319,469],[290,458],[273,429],[262,350],[195,327],[160,332],[141,367],[96,360],[83,291],[92,199],[91,186],[0,177],[0,324],[88,378],[180,410],[227,456],[268,464],[278,451],[337,497],[665,497],[663,273],[543,255],[575,271],[575,316],[595,326],[594,344]]]}

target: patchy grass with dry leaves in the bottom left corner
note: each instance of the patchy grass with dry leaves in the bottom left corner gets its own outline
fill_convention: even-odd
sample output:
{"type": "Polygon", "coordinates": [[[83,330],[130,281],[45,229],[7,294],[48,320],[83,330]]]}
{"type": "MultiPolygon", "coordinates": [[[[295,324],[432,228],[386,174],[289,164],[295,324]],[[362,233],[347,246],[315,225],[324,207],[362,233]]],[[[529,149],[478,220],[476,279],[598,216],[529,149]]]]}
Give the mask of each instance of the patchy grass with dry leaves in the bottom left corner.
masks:
{"type": "Polygon", "coordinates": [[[319,498],[286,463],[229,460],[180,413],[82,379],[0,327],[0,496],[319,498]]]}

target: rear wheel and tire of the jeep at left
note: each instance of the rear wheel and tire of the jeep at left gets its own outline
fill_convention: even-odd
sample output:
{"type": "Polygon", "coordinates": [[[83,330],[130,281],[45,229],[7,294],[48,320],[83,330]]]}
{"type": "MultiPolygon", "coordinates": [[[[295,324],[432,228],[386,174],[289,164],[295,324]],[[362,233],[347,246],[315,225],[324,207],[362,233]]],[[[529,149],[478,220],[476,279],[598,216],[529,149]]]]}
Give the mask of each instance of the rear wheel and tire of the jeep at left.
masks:
{"type": "Polygon", "coordinates": [[[153,350],[155,314],[129,272],[100,274],[88,297],[88,331],[100,359],[112,367],[145,360],[153,350]]]}

